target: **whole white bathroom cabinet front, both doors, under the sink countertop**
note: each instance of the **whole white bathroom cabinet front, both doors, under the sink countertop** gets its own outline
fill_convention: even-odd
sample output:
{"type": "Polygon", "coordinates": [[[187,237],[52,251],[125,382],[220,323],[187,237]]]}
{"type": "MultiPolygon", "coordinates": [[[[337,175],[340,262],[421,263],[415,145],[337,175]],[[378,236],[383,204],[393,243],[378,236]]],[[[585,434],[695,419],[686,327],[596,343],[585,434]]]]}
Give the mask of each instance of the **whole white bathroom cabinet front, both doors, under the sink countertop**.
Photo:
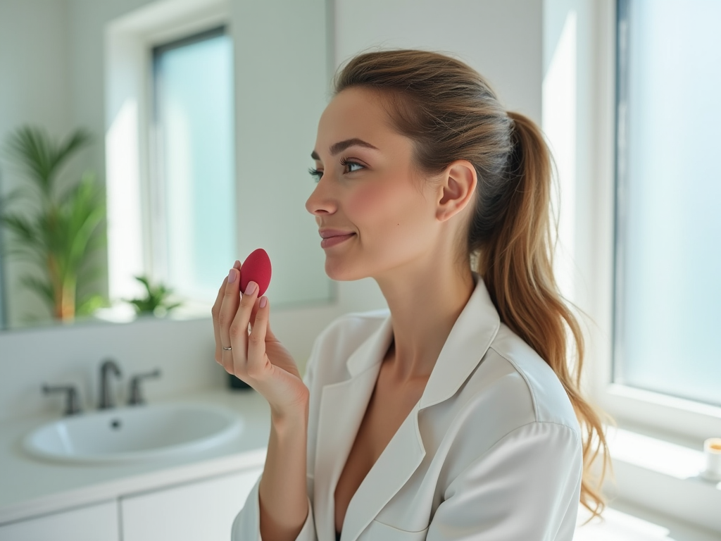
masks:
{"type": "Polygon", "coordinates": [[[4,524],[0,541],[227,541],[261,473],[253,467],[4,524]]]}

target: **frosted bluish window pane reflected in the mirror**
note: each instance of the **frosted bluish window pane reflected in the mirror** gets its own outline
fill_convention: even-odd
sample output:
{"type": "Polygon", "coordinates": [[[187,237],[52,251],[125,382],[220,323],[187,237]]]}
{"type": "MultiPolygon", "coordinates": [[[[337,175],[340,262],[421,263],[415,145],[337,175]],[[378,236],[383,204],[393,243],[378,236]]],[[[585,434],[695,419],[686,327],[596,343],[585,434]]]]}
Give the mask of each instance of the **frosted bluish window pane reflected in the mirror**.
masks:
{"type": "Polygon", "coordinates": [[[151,265],[190,299],[214,299],[235,259],[232,66],[223,27],[153,50],[151,265]]]}

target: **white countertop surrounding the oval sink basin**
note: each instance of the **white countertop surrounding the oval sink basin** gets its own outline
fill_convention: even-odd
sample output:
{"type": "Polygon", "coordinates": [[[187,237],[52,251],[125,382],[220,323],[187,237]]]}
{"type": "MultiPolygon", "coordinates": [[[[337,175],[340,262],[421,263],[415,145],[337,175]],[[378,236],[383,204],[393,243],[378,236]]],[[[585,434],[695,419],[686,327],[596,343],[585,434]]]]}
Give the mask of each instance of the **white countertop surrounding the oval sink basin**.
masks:
{"type": "Polygon", "coordinates": [[[224,405],[242,417],[245,428],[221,447],[183,457],[73,465],[45,462],[22,450],[25,434],[60,418],[59,412],[0,423],[0,524],[263,465],[270,409],[257,392],[205,390],[154,403],[177,401],[224,405]]]}

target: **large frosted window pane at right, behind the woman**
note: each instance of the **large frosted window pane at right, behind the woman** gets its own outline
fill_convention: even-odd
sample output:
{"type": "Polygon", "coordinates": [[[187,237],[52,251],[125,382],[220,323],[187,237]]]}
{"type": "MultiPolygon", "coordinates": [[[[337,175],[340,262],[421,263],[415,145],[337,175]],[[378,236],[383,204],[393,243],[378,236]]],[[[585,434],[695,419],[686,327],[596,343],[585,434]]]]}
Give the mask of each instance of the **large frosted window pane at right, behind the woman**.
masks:
{"type": "Polygon", "coordinates": [[[721,406],[721,3],[620,0],[613,381],[721,406]]]}

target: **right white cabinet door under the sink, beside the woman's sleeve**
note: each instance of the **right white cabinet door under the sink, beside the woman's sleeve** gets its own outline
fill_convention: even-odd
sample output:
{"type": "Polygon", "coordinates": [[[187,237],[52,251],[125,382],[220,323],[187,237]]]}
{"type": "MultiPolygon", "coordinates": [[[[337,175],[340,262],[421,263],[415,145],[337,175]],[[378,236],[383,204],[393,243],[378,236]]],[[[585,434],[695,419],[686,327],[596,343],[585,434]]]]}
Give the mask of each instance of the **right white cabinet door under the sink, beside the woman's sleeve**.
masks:
{"type": "Polygon", "coordinates": [[[123,541],[228,541],[261,468],[121,498],[123,541]]]}

